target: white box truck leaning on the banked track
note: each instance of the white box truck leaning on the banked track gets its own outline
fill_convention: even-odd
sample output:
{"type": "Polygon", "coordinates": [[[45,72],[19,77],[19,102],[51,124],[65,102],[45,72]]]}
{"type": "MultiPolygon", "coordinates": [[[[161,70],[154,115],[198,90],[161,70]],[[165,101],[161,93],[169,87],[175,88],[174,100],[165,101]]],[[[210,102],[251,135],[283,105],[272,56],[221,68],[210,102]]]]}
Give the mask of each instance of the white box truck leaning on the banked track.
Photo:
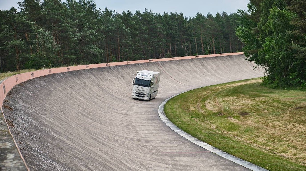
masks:
{"type": "Polygon", "coordinates": [[[133,99],[151,100],[157,96],[159,87],[160,72],[137,71],[133,81],[133,99]]]}

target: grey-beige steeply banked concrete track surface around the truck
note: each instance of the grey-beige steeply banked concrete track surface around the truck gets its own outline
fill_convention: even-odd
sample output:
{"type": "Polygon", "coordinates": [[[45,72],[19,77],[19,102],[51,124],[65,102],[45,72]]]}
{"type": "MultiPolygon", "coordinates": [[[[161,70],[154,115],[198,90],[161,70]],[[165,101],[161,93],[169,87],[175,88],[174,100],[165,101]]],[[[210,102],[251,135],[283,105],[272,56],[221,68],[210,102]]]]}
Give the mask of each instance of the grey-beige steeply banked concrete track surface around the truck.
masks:
{"type": "Polygon", "coordinates": [[[3,108],[30,170],[247,170],[166,126],[158,107],[198,87],[263,76],[244,55],[47,75],[15,86],[3,108]],[[159,93],[133,100],[136,71],[161,72],[159,93]]]}

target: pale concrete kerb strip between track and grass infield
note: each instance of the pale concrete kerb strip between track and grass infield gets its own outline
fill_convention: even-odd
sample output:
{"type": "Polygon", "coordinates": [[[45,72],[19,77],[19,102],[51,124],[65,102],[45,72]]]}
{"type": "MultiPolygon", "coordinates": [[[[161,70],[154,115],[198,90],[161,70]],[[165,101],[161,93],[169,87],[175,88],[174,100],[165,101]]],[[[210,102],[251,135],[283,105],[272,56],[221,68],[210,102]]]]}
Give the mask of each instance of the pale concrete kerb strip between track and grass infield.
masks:
{"type": "MultiPolygon", "coordinates": [[[[190,90],[188,90],[190,91],[190,90]]],[[[184,91],[184,92],[181,92],[179,94],[182,94],[182,93],[185,93],[187,91],[184,91]]],[[[179,95],[177,94],[177,95],[179,95]]],[[[242,160],[241,158],[238,158],[238,157],[235,157],[231,154],[228,154],[222,150],[219,150],[218,148],[216,147],[213,147],[212,145],[210,144],[207,144],[207,143],[204,143],[203,141],[200,141],[199,139],[196,139],[195,137],[187,134],[186,132],[184,132],[183,130],[181,130],[180,128],[178,128],[176,125],[174,125],[165,115],[164,113],[164,106],[166,104],[166,102],[168,102],[170,99],[172,99],[173,97],[177,96],[177,95],[174,95],[174,96],[171,96],[169,97],[168,99],[166,99],[165,101],[163,101],[160,105],[159,105],[159,108],[158,108],[158,114],[159,114],[159,117],[160,119],[168,126],[170,127],[172,130],[174,130],[175,132],[177,132],[179,135],[181,135],[182,137],[188,139],[189,141],[191,141],[192,143],[195,143],[196,145],[212,152],[212,153],[215,153],[223,158],[226,158],[227,160],[230,160],[234,163],[237,163],[238,165],[242,165],[244,166],[245,168],[248,168],[248,169],[251,169],[251,170],[255,170],[255,171],[268,171],[267,169],[264,169],[258,165],[254,165],[250,162],[247,162],[245,160],[242,160]]]]}

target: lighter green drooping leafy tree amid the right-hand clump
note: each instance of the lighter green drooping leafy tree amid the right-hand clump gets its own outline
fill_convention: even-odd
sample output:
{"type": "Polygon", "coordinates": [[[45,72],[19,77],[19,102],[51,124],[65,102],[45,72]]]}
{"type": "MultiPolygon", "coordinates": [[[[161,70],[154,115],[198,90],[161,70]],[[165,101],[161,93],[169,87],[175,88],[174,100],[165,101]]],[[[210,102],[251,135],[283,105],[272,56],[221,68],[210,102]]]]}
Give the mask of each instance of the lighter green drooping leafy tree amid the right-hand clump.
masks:
{"type": "Polygon", "coordinates": [[[290,21],[295,16],[275,6],[270,11],[268,20],[263,26],[263,30],[270,34],[266,37],[263,49],[259,50],[258,54],[269,59],[266,61],[269,79],[274,80],[274,84],[284,87],[293,83],[288,78],[293,78],[295,74],[294,66],[291,65],[294,63],[292,56],[296,52],[292,50],[292,37],[286,32],[293,28],[290,21]]]}

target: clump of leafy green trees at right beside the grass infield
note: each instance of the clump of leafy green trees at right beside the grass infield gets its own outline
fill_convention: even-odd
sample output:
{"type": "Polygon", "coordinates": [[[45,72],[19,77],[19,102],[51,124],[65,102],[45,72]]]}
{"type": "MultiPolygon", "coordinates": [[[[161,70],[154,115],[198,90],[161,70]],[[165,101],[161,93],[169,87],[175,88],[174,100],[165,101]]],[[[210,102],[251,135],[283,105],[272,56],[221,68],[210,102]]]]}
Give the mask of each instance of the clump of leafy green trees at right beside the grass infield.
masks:
{"type": "Polygon", "coordinates": [[[306,1],[250,0],[237,35],[250,61],[266,69],[270,87],[306,88],[306,1]]]}

